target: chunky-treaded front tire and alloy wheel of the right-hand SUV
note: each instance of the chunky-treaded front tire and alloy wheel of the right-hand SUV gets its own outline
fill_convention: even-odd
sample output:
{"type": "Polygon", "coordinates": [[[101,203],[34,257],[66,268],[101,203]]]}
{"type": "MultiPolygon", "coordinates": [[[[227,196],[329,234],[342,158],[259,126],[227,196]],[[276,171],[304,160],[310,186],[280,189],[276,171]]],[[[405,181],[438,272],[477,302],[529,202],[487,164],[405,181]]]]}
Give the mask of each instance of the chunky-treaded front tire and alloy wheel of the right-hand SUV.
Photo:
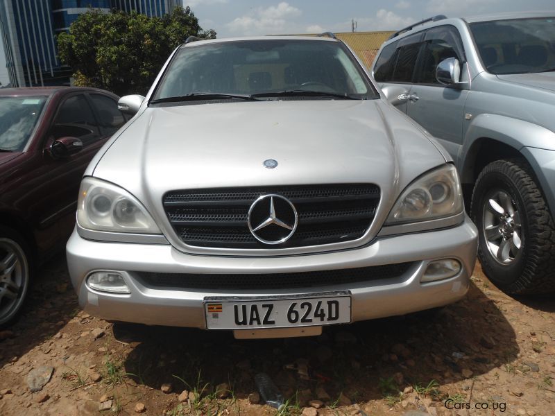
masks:
{"type": "Polygon", "coordinates": [[[525,162],[488,164],[472,192],[471,216],[482,270],[495,286],[510,295],[555,291],[555,227],[525,162]]]}

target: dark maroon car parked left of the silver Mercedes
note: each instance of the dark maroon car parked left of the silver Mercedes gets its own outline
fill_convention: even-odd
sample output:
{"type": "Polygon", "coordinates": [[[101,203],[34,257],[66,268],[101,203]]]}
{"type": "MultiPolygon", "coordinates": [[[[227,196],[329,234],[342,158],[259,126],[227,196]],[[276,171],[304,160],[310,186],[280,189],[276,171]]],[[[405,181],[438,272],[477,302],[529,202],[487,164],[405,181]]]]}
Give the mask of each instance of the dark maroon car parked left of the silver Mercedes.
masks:
{"type": "Polygon", "coordinates": [[[33,268],[64,248],[81,176],[126,122],[93,88],[0,89],[0,327],[15,318],[33,268]]]}

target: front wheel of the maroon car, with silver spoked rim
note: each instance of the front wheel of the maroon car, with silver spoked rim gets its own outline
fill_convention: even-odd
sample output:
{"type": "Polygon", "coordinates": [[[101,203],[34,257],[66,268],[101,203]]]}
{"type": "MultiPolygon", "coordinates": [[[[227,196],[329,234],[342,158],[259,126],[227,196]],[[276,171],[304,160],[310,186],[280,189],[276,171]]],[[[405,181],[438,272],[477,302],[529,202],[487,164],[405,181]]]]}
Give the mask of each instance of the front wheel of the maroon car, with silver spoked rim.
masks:
{"type": "Polygon", "coordinates": [[[22,309],[31,281],[31,257],[15,230],[0,226],[0,329],[22,309]]]}

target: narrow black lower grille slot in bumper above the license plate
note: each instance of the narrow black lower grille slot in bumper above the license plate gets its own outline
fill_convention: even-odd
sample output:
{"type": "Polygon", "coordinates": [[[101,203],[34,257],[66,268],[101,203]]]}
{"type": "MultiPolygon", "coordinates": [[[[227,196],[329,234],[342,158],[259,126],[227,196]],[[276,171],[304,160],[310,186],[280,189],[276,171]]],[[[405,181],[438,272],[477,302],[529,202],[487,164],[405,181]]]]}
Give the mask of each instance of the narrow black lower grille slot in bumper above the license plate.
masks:
{"type": "Polygon", "coordinates": [[[316,272],[209,275],[198,273],[137,272],[140,279],[151,287],[218,289],[289,289],[352,284],[380,279],[394,279],[406,273],[413,263],[388,264],[341,270],[316,272]]]}

